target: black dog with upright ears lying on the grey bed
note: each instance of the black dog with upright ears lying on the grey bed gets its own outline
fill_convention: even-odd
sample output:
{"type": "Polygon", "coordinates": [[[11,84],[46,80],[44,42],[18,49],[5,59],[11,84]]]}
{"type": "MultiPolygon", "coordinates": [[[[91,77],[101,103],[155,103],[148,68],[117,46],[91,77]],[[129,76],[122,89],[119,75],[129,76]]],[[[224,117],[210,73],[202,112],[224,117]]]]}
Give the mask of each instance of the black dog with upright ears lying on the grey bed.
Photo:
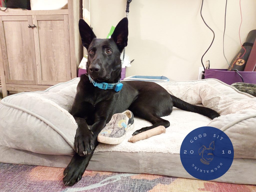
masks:
{"type": "MultiPolygon", "coordinates": [[[[117,83],[121,77],[120,53],[127,46],[128,20],[123,18],[116,26],[110,39],[97,39],[90,26],[79,20],[79,31],[82,44],[88,50],[86,69],[94,82],[117,83]]],[[[153,125],[143,127],[133,133],[136,135],[159,125],[166,128],[170,123],[161,116],[172,112],[173,106],[205,115],[211,119],[219,114],[209,108],[191,105],[170,95],[164,88],[153,82],[123,81],[121,91],[100,89],[82,75],[77,86],[77,94],[72,106],[78,128],[75,136],[77,154],[64,170],[63,183],[74,185],[78,182],[98,145],[97,136],[115,113],[127,109],[135,116],[150,121],[153,125]],[[87,125],[92,125],[88,129],[87,125]]]]}

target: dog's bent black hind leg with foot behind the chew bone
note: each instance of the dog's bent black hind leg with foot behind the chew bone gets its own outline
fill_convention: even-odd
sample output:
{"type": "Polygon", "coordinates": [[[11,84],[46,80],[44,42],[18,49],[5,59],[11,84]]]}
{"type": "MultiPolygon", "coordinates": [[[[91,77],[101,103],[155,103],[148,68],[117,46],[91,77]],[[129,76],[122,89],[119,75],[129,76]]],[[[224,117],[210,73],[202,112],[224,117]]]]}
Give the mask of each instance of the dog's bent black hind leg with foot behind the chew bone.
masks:
{"type": "Polygon", "coordinates": [[[136,109],[129,108],[129,110],[131,110],[135,116],[143,118],[153,124],[152,126],[143,127],[141,129],[135,131],[132,135],[137,135],[139,133],[153,129],[160,125],[163,125],[165,128],[170,126],[169,121],[160,118],[159,116],[157,116],[155,114],[155,112],[153,110],[150,110],[146,107],[140,107],[140,108],[136,108],[136,109]]]}

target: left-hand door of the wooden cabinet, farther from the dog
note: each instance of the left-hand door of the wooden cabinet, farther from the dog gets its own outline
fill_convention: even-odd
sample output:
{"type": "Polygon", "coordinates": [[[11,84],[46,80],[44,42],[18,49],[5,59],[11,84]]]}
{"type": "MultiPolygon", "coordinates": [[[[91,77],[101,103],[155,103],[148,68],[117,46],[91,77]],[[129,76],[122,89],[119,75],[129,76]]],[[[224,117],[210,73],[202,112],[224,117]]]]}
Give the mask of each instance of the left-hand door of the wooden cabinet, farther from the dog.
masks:
{"type": "Polygon", "coordinates": [[[0,17],[6,83],[37,84],[32,16],[0,17]]]}

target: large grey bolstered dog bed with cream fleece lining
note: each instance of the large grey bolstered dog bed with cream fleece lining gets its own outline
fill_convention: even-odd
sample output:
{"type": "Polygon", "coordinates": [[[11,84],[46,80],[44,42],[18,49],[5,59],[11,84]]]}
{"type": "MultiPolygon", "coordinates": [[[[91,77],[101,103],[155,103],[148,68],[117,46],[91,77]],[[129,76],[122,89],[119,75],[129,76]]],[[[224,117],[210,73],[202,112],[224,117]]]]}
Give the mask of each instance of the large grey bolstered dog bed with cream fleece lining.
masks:
{"type": "MultiPolygon", "coordinates": [[[[0,162],[66,167],[74,154],[77,124],[69,114],[80,78],[45,91],[10,95],[0,103],[0,162]]],[[[189,103],[204,105],[221,116],[211,120],[174,108],[165,134],[136,143],[133,131],[150,125],[135,118],[134,130],[119,145],[99,144],[87,170],[148,173],[193,178],[179,157],[181,143],[192,130],[213,126],[234,146],[234,161],[219,182],[256,184],[256,98],[216,79],[158,83],[189,103]]]]}

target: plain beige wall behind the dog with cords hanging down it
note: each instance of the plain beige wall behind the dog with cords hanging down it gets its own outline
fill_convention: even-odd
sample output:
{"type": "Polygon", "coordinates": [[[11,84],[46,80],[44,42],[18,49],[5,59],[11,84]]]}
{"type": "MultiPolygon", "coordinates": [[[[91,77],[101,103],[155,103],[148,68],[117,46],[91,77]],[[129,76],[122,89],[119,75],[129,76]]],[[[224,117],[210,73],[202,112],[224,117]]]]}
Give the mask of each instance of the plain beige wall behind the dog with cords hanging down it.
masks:
{"type": "MultiPolygon", "coordinates": [[[[215,31],[215,41],[203,62],[211,68],[228,68],[223,56],[224,0],[205,0],[202,14],[215,31]]],[[[202,54],[209,47],[212,32],[200,17],[201,0],[133,0],[129,13],[126,54],[135,59],[126,69],[131,75],[164,75],[170,80],[195,80],[202,54]]],[[[243,23],[241,41],[256,29],[256,1],[241,1],[243,23]]],[[[106,38],[110,27],[125,17],[125,0],[91,0],[91,26],[98,38],[106,38]]],[[[240,49],[239,0],[229,0],[225,35],[225,55],[229,62],[240,49]]]]}

